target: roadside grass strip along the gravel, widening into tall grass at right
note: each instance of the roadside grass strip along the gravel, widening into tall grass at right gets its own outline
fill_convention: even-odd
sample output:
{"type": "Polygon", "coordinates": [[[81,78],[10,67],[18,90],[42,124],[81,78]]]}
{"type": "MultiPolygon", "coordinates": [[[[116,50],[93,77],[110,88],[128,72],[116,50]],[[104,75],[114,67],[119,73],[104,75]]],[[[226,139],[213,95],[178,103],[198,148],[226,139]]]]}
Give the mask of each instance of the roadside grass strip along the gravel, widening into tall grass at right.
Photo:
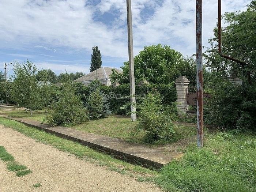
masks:
{"type": "Polygon", "coordinates": [[[155,182],[169,192],[256,192],[256,136],[253,133],[206,133],[203,149],[193,143],[183,151],[183,158],[156,171],[113,159],[15,121],[0,118],[0,124],[76,157],[107,165],[121,174],[133,173],[139,181],[155,182]]]}

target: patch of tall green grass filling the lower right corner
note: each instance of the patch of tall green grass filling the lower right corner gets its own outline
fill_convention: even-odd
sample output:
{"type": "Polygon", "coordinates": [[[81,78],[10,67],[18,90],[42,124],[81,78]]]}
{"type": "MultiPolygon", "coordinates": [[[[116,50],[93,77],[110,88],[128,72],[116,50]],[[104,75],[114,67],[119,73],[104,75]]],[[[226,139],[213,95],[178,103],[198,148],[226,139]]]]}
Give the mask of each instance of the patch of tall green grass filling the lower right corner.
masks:
{"type": "Polygon", "coordinates": [[[182,161],[163,167],[155,182],[167,191],[256,191],[255,135],[206,136],[203,149],[188,147],[182,161]]]}

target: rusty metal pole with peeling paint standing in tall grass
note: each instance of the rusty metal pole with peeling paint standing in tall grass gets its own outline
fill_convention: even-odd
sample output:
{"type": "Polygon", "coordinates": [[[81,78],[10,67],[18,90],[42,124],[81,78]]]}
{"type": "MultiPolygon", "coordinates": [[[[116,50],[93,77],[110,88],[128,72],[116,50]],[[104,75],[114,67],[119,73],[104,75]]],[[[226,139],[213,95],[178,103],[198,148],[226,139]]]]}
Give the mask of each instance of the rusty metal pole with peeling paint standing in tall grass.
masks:
{"type": "Polygon", "coordinates": [[[197,103],[197,147],[204,146],[203,132],[203,38],[202,0],[196,0],[196,103],[197,103]]]}

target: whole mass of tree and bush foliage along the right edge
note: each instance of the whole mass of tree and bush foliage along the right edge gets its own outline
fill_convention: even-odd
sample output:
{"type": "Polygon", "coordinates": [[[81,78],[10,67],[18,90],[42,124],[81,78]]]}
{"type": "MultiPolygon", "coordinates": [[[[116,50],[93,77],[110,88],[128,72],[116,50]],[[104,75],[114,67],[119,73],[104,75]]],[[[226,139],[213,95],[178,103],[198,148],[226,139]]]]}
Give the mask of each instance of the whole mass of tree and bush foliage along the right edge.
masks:
{"type": "Polygon", "coordinates": [[[206,65],[212,71],[213,98],[205,106],[206,122],[221,128],[253,129],[256,118],[256,1],[251,1],[246,11],[223,15],[227,26],[223,28],[223,53],[245,61],[244,68],[218,55],[218,29],[214,29],[211,48],[205,52],[206,65]],[[238,75],[244,84],[235,86],[227,81],[230,74],[238,75]]]}

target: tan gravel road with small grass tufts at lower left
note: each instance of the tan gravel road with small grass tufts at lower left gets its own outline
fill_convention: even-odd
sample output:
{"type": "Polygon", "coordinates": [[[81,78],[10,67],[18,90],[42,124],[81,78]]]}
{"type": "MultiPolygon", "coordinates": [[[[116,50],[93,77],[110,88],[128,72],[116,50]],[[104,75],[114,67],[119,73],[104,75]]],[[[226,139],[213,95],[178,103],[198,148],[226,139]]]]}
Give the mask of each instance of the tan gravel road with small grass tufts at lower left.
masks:
{"type": "Polygon", "coordinates": [[[1,192],[160,192],[153,184],[110,171],[0,125],[0,146],[33,172],[16,177],[0,160],[1,192]],[[41,187],[33,185],[41,183],[41,187]]]}

